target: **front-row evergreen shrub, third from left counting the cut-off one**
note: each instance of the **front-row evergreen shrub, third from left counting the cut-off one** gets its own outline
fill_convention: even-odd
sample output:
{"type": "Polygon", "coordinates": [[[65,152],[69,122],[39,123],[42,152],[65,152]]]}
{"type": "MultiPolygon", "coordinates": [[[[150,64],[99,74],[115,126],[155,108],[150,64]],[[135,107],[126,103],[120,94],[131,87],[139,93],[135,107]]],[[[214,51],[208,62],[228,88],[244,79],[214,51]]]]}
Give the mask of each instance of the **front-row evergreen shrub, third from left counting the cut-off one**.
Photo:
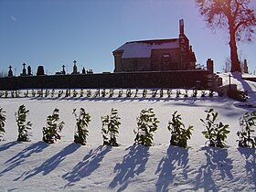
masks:
{"type": "Polygon", "coordinates": [[[64,127],[64,122],[59,123],[59,109],[55,109],[52,115],[48,115],[47,126],[43,127],[43,141],[48,144],[53,144],[60,140],[59,132],[64,127]]]}

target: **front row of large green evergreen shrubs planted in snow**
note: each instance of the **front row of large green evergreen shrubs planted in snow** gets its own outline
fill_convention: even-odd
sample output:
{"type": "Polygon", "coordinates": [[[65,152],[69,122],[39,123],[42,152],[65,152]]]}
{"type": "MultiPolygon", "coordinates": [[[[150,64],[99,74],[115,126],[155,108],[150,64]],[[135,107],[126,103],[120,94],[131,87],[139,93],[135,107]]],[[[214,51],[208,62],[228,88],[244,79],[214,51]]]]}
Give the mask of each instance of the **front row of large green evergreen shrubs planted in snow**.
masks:
{"type": "MultiPolygon", "coordinates": [[[[17,141],[28,142],[31,136],[30,130],[32,123],[27,122],[27,114],[29,110],[25,105],[20,105],[16,115],[16,124],[18,129],[17,141]]],[[[206,111],[207,116],[205,119],[200,119],[205,129],[202,134],[207,139],[210,146],[225,147],[227,135],[229,134],[229,124],[222,122],[217,123],[219,113],[214,112],[213,109],[206,111]]],[[[76,109],[73,110],[76,120],[76,131],[74,133],[74,142],[79,144],[86,144],[89,134],[89,123],[91,122],[91,115],[83,108],[80,108],[78,113],[76,109]]],[[[5,111],[0,108],[0,140],[5,133],[5,111]]],[[[137,128],[134,130],[135,139],[134,144],[142,144],[145,146],[152,146],[154,141],[154,133],[158,128],[158,119],[155,116],[153,108],[144,109],[137,117],[137,128]]],[[[237,140],[240,147],[256,147],[256,137],[253,136],[256,126],[256,111],[246,112],[240,117],[240,131],[237,133],[239,139],[237,140]]],[[[115,109],[111,113],[101,117],[101,134],[103,144],[118,146],[117,135],[121,125],[121,118],[115,109]]],[[[54,109],[51,115],[47,117],[47,125],[43,127],[42,140],[48,144],[53,144],[61,139],[60,132],[64,128],[65,123],[59,120],[59,109],[54,109]]],[[[182,122],[181,114],[174,112],[171,120],[168,122],[168,131],[171,134],[170,144],[181,147],[187,146],[187,141],[190,139],[193,131],[193,126],[188,127],[182,122]]]]}

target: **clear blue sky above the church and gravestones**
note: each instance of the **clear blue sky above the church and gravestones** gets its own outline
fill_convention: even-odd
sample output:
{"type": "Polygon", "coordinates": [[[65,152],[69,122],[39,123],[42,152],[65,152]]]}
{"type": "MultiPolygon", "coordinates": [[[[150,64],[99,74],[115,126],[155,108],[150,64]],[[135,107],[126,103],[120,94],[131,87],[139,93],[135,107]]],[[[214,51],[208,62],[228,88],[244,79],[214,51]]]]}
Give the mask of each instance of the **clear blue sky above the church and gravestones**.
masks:
{"type": "MultiPolygon", "coordinates": [[[[0,0],[0,71],[11,65],[18,75],[26,63],[34,74],[38,65],[48,74],[63,64],[71,72],[74,59],[80,71],[113,71],[114,49],[126,41],[176,38],[180,18],[197,63],[211,58],[221,71],[229,57],[228,31],[208,29],[194,0],[0,0]]],[[[251,72],[255,50],[255,41],[239,44],[251,72]]]]}

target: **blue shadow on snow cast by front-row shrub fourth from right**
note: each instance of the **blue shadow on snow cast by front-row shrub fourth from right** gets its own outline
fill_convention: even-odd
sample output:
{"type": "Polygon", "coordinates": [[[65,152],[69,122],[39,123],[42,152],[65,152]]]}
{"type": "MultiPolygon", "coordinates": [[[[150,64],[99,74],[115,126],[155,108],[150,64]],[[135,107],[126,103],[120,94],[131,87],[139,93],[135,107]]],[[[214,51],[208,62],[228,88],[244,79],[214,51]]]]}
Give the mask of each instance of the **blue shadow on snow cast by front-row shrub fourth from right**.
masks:
{"type": "Polygon", "coordinates": [[[123,191],[128,185],[129,180],[134,176],[139,176],[144,172],[145,165],[149,158],[149,147],[142,145],[133,145],[127,148],[130,150],[123,157],[123,162],[117,163],[114,167],[114,173],[117,175],[113,178],[109,187],[114,188],[120,186],[117,191],[123,191]]]}

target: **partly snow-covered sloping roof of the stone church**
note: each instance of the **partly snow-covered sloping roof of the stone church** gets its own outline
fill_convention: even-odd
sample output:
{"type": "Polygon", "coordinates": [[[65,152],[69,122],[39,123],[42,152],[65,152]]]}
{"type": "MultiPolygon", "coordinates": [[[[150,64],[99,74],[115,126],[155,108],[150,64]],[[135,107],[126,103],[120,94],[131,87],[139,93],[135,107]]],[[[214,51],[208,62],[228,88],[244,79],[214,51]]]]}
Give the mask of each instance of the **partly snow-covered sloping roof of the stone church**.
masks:
{"type": "Polygon", "coordinates": [[[115,51],[123,50],[122,59],[150,58],[151,50],[162,48],[179,48],[178,38],[127,42],[115,51]]]}

